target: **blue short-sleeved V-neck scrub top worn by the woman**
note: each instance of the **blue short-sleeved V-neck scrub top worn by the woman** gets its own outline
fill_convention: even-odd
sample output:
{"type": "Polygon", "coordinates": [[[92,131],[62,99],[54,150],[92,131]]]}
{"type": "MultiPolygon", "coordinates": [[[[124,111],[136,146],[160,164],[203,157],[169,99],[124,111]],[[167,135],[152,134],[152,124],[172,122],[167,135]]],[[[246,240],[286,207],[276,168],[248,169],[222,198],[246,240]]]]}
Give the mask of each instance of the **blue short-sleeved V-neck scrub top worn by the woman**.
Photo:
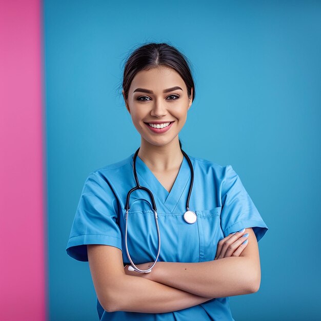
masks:
{"type": "MultiPolygon", "coordinates": [[[[127,193],[136,183],[132,163],[134,153],[121,162],[99,168],[86,179],[67,244],[67,254],[88,261],[87,244],[104,244],[123,252],[125,248],[125,205],[127,193]]],[[[194,224],[184,220],[191,172],[184,156],[170,193],[137,155],[136,171],[141,186],[153,193],[158,215],[161,247],[158,261],[205,262],[213,260],[217,243],[230,233],[252,227],[259,241],[268,227],[231,165],[220,166],[192,157],[194,184],[189,208],[197,215],[194,224]]],[[[146,191],[131,193],[127,243],[135,264],[153,262],[158,248],[151,200],[146,191]],[[148,243],[145,240],[149,240],[148,243]]],[[[156,263],[157,264],[157,263],[156,263]]],[[[234,320],[229,297],[167,313],[107,312],[97,299],[97,312],[105,320],[234,320]]]]}

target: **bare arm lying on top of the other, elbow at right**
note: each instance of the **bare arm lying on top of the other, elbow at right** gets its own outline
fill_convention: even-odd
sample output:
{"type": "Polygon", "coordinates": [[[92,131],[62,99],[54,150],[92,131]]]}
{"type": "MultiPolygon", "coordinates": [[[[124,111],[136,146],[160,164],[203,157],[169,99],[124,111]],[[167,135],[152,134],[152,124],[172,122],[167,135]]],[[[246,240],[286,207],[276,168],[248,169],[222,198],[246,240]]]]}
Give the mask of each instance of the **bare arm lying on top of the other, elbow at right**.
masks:
{"type": "MultiPolygon", "coordinates": [[[[246,232],[249,233],[248,245],[239,257],[198,263],[157,262],[146,277],[209,298],[254,293],[260,284],[258,245],[253,229],[248,228],[246,232]]],[[[138,267],[147,269],[148,265],[150,263],[138,267]]]]}

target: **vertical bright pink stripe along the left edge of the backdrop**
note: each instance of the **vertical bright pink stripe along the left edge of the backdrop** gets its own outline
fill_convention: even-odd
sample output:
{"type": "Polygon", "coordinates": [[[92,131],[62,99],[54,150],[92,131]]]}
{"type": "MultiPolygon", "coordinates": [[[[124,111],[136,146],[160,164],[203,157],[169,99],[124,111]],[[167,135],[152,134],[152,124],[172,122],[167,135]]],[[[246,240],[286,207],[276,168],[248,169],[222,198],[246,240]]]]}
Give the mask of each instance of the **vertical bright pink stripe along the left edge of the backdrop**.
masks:
{"type": "Polygon", "coordinates": [[[0,0],[0,320],[45,320],[41,0],[0,0]]]}

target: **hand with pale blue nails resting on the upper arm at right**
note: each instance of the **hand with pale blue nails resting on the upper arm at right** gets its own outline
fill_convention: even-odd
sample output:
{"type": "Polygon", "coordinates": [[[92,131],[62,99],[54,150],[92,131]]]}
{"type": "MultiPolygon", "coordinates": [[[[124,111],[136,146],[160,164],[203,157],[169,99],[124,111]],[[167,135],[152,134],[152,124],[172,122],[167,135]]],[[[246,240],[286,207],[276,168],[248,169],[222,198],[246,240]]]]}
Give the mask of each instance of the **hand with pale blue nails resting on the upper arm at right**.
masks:
{"type": "Polygon", "coordinates": [[[217,244],[214,260],[229,256],[239,256],[248,245],[248,242],[243,244],[243,242],[249,237],[248,233],[244,233],[245,229],[243,232],[231,233],[225,238],[221,239],[217,244]]]}

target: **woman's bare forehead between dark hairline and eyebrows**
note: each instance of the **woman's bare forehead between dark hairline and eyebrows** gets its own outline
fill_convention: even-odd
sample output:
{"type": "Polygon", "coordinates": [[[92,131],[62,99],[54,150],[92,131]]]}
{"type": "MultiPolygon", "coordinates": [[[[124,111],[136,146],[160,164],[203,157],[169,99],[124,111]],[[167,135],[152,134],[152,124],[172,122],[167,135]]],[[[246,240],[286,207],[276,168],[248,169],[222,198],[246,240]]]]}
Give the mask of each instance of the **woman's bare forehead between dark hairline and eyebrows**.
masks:
{"type": "MultiPolygon", "coordinates": [[[[179,86],[184,87],[184,80],[179,73],[167,66],[158,66],[149,70],[137,72],[130,86],[130,91],[134,91],[136,87],[146,89],[165,89],[168,87],[179,86]]],[[[183,88],[182,87],[182,88],[183,88]]]]}

